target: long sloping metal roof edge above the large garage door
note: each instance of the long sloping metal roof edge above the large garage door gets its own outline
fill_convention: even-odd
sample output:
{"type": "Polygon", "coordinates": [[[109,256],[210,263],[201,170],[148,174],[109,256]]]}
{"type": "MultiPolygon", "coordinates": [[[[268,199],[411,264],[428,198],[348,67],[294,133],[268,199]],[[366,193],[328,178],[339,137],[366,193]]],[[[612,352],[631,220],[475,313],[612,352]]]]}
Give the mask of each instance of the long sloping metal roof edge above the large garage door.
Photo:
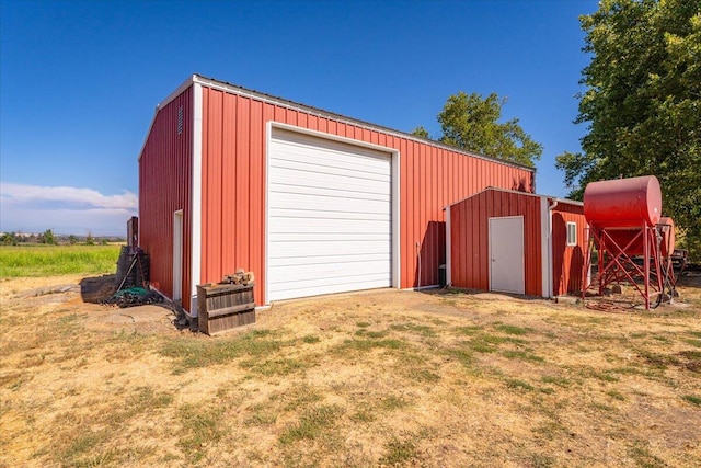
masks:
{"type": "MultiPolygon", "coordinates": [[[[460,149],[460,148],[456,148],[453,146],[449,146],[449,145],[445,145],[441,144],[440,141],[436,141],[436,140],[432,140],[432,139],[427,139],[427,138],[422,138],[422,137],[417,137],[415,135],[412,134],[407,134],[401,130],[397,130],[390,127],[384,127],[382,125],[377,125],[377,124],[372,124],[369,122],[365,122],[365,121],[360,121],[357,118],[353,118],[353,117],[348,117],[345,116],[343,114],[336,114],[334,112],[330,112],[330,111],[325,111],[323,109],[319,109],[319,107],[314,107],[311,105],[307,105],[307,104],[302,104],[296,101],[290,101],[284,98],[278,98],[278,96],[274,96],[271,94],[266,94],[260,91],[255,91],[255,90],[251,90],[248,88],[243,88],[240,87],[238,84],[232,84],[226,81],[220,81],[220,80],[216,80],[214,78],[207,78],[204,77],[202,75],[193,75],[192,77],[193,82],[199,83],[204,87],[208,87],[208,88],[212,88],[212,89],[218,89],[220,91],[225,91],[225,92],[229,92],[232,94],[238,94],[238,95],[243,95],[243,96],[248,96],[248,98],[252,98],[252,99],[256,99],[258,101],[263,101],[263,102],[267,102],[269,104],[276,104],[276,105],[281,105],[285,106],[287,109],[292,109],[292,110],[299,110],[306,113],[309,113],[311,115],[314,115],[317,117],[324,117],[324,118],[332,118],[336,122],[341,122],[344,124],[349,124],[349,125],[354,125],[367,130],[376,130],[376,132],[382,132],[384,134],[388,135],[392,135],[399,138],[405,138],[409,140],[413,140],[413,141],[417,141],[417,142],[423,142],[426,145],[430,145],[433,147],[436,148],[441,148],[441,149],[446,149],[448,151],[453,151],[460,155],[464,155],[464,156],[469,156],[472,158],[478,158],[478,159],[483,159],[486,161],[491,161],[491,162],[496,162],[499,164],[504,164],[504,165],[509,165],[513,168],[519,168],[519,169],[525,169],[527,171],[531,171],[531,172],[536,172],[536,168],[535,167],[529,167],[529,165],[525,165],[525,164],[519,164],[517,162],[510,162],[510,161],[506,161],[503,159],[498,159],[498,158],[494,158],[491,156],[486,156],[486,155],[480,155],[478,152],[472,152],[472,151],[467,151],[464,149],[460,149]]],[[[164,105],[164,104],[162,104],[164,105]]]]}

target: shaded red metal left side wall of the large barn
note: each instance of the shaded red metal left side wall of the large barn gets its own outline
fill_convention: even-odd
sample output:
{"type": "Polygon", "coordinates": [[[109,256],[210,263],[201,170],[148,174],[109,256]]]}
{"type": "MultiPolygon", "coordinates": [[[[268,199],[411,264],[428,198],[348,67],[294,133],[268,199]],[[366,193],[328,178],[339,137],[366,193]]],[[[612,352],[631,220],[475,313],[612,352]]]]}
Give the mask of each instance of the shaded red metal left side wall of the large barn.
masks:
{"type": "MultiPolygon", "coordinates": [[[[151,282],[172,297],[173,213],[183,210],[183,298],[191,297],[192,104],[191,87],[160,109],[139,156],[139,243],[150,258],[151,282]]],[[[189,300],[183,305],[189,308],[189,300]]]]}

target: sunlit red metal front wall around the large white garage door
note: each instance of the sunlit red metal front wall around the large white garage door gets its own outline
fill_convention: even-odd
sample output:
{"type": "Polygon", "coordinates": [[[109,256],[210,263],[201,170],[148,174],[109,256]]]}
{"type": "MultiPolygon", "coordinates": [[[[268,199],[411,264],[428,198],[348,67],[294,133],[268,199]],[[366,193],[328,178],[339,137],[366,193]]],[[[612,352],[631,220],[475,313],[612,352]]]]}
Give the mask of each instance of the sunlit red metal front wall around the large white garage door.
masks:
{"type": "Polygon", "coordinates": [[[400,151],[400,285],[403,288],[438,284],[438,265],[445,262],[444,206],[486,185],[504,189],[521,185],[527,191],[532,190],[533,172],[522,168],[469,157],[254,98],[204,87],[203,106],[200,282],[219,281],[238,267],[254,271],[257,304],[263,304],[265,284],[265,133],[269,121],[376,142],[400,151]]]}

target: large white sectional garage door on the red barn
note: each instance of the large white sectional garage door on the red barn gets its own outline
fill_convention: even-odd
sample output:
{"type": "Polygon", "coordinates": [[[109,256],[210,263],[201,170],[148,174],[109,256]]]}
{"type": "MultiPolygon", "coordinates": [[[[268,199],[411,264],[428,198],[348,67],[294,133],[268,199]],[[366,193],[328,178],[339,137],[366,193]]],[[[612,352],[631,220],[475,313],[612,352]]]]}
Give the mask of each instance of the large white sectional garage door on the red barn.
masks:
{"type": "Polygon", "coordinates": [[[391,155],[273,129],[268,301],[391,286],[391,155]]]}

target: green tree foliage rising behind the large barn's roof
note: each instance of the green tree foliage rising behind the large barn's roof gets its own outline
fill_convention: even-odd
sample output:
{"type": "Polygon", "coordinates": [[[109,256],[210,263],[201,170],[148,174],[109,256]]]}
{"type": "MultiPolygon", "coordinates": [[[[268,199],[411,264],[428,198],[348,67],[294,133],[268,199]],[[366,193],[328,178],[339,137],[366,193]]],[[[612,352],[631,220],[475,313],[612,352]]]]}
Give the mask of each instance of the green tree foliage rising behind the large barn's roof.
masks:
{"type": "MultiPolygon", "coordinates": [[[[438,139],[446,145],[532,168],[533,161],[543,152],[542,145],[524,132],[518,118],[499,123],[505,103],[506,99],[499,99],[496,93],[486,98],[462,91],[450,95],[438,114],[443,132],[438,139]]],[[[428,137],[424,127],[415,128],[413,134],[428,137]]]]}

